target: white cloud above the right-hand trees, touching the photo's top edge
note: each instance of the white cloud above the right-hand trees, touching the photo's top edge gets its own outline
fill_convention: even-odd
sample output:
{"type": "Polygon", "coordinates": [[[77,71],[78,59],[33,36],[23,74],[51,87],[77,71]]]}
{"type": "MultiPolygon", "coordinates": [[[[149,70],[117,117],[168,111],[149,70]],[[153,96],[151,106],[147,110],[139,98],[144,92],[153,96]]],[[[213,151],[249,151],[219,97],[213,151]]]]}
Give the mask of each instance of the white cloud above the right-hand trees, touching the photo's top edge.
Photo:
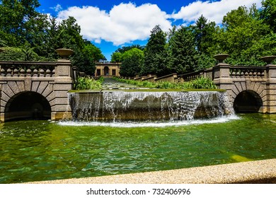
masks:
{"type": "Polygon", "coordinates": [[[257,8],[261,7],[261,0],[221,0],[221,1],[195,1],[188,6],[181,7],[178,13],[173,13],[171,18],[182,19],[185,23],[197,21],[201,15],[209,21],[222,23],[223,16],[238,6],[251,7],[256,4],[257,8]]]}

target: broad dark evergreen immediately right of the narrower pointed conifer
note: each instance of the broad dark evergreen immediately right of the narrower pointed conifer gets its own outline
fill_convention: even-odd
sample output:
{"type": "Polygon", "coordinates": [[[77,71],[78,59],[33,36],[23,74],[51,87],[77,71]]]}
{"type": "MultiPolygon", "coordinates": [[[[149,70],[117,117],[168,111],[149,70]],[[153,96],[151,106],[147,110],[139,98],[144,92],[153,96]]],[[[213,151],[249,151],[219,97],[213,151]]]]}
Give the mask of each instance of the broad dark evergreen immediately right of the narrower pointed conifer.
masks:
{"type": "Polygon", "coordinates": [[[168,65],[171,72],[185,74],[195,71],[197,57],[195,36],[192,30],[181,26],[168,41],[168,65]]]}

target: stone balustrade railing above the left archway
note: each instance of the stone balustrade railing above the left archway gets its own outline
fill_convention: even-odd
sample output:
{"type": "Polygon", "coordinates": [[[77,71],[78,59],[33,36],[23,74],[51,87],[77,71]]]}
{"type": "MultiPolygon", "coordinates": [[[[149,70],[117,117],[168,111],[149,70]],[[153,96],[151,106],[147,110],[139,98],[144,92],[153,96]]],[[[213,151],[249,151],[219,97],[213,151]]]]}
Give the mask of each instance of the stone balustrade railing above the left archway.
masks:
{"type": "Polygon", "coordinates": [[[0,62],[1,77],[54,77],[56,62],[0,62]]]}

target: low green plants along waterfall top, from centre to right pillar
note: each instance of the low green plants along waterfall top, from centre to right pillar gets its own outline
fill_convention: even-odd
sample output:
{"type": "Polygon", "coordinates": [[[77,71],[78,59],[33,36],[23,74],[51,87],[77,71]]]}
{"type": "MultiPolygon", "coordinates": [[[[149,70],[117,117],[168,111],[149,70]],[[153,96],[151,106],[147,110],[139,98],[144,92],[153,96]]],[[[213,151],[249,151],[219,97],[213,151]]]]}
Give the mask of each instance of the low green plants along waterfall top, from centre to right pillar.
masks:
{"type": "Polygon", "coordinates": [[[122,83],[132,84],[134,86],[146,87],[146,88],[161,88],[161,89],[217,89],[214,82],[203,76],[196,78],[193,81],[183,83],[171,83],[168,81],[161,81],[158,83],[151,83],[149,81],[135,81],[130,79],[123,79],[114,77],[117,81],[122,83]]]}

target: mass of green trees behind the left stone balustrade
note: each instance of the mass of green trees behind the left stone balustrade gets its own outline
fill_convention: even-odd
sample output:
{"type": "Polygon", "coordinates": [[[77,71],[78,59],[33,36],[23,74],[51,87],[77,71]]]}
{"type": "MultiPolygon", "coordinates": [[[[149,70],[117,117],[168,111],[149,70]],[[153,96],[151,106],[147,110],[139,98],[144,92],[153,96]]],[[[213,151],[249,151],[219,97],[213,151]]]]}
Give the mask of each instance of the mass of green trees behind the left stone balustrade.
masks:
{"type": "Polygon", "coordinates": [[[60,23],[35,10],[38,0],[0,1],[1,60],[55,61],[54,50],[74,50],[71,61],[80,71],[93,75],[95,62],[105,59],[98,47],[84,40],[74,17],[60,23]],[[18,54],[17,54],[18,53],[18,54]],[[19,55],[22,54],[22,55],[19,55]]]}

